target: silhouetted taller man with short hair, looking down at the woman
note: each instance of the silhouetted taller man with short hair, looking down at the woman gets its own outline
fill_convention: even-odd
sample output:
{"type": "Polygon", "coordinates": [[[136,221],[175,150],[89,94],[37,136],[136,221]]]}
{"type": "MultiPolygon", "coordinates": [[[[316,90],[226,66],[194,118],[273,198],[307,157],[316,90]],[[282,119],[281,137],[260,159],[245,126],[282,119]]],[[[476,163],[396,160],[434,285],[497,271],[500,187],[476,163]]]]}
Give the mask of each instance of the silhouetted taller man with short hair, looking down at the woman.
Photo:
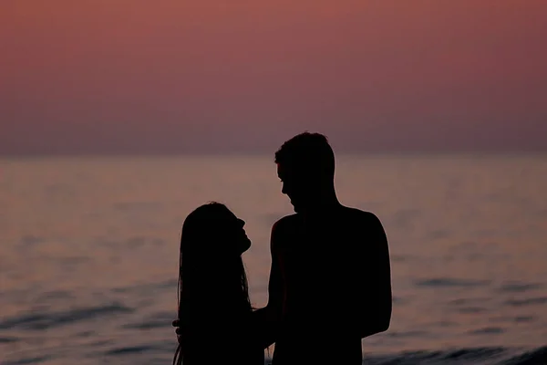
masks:
{"type": "Polygon", "coordinates": [[[375,214],[338,201],[324,135],[294,136],[275,162],[295,214],[272,228],[268,303],[253,312],[263,346],[275,343],[273,365],[360,365],[361,339],[391,319],[384,228],[375,214]]]}

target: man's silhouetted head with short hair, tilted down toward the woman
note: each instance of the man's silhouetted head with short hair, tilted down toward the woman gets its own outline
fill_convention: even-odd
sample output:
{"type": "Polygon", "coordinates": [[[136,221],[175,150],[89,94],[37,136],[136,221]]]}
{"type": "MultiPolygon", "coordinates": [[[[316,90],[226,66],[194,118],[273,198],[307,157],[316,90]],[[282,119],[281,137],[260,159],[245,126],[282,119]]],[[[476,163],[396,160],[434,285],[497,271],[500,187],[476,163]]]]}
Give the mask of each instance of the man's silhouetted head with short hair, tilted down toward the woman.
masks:
{"type": "Polygon", "coordinates": [[[334,196],[335,153],[323,134],[304,132],[285,141],[275,152],[282,193],[295,212],[324,203],[334,196]]]}

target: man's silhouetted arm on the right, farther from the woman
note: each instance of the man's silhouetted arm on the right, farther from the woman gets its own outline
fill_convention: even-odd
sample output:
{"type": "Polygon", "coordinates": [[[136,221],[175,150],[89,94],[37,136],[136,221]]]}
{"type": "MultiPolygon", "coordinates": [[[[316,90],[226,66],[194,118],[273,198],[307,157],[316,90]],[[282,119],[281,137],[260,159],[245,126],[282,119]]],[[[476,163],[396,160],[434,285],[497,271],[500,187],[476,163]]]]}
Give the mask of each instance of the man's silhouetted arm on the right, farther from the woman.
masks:
{"type": "Polygon", "coordinates": [[[365,233],[365,262],[361,282],[365,286],[361,294],[362,316],[359,333],[361,339],[384,332],[389,328],[392,310],[391,266],[387,236],[380,220],[370,214],[365,233]]]}

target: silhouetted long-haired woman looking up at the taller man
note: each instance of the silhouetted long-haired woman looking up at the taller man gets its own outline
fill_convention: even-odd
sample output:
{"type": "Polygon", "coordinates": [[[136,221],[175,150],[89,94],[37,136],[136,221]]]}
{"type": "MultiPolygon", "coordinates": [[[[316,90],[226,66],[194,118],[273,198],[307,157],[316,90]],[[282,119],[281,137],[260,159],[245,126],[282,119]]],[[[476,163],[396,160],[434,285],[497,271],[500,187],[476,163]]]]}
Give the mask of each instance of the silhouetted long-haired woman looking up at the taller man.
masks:
{"type": "Polygon", "coordinates": [[[251,241],[245,222],[222,203],[206,203],[182,225],[179,273],[179,347],[173,364],[263,365],[253,340],[242,254],[251,241]]]}

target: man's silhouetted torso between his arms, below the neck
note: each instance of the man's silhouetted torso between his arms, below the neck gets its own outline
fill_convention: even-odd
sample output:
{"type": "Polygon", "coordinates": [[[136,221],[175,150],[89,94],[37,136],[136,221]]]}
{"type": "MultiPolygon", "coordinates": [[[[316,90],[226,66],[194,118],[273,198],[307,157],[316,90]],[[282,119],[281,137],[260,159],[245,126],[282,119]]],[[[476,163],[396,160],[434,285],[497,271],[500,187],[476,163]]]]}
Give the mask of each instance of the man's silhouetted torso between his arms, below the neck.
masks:
{"type": "Polygon", "coordinates": [[[282,224],[276,255],[284,308],[274,363],[310,360],[317,352],[315,363],[360,364],[361,339],[348,326],[363,285],[366,213],[343,207],[313,220],[294,214],[282,224]]]}

